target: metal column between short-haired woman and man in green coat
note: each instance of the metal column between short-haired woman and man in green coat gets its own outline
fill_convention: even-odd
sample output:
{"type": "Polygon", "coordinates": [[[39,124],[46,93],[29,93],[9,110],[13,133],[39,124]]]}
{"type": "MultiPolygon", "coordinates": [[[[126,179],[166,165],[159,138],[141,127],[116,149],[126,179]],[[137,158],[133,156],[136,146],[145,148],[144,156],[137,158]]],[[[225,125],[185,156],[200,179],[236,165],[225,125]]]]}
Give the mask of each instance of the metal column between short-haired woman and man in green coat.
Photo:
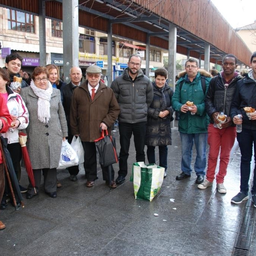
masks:
{"type": "Polygon", "coordinates": [[[169,24],[168,84],[175,90],[177,28],[169,24]]]}

